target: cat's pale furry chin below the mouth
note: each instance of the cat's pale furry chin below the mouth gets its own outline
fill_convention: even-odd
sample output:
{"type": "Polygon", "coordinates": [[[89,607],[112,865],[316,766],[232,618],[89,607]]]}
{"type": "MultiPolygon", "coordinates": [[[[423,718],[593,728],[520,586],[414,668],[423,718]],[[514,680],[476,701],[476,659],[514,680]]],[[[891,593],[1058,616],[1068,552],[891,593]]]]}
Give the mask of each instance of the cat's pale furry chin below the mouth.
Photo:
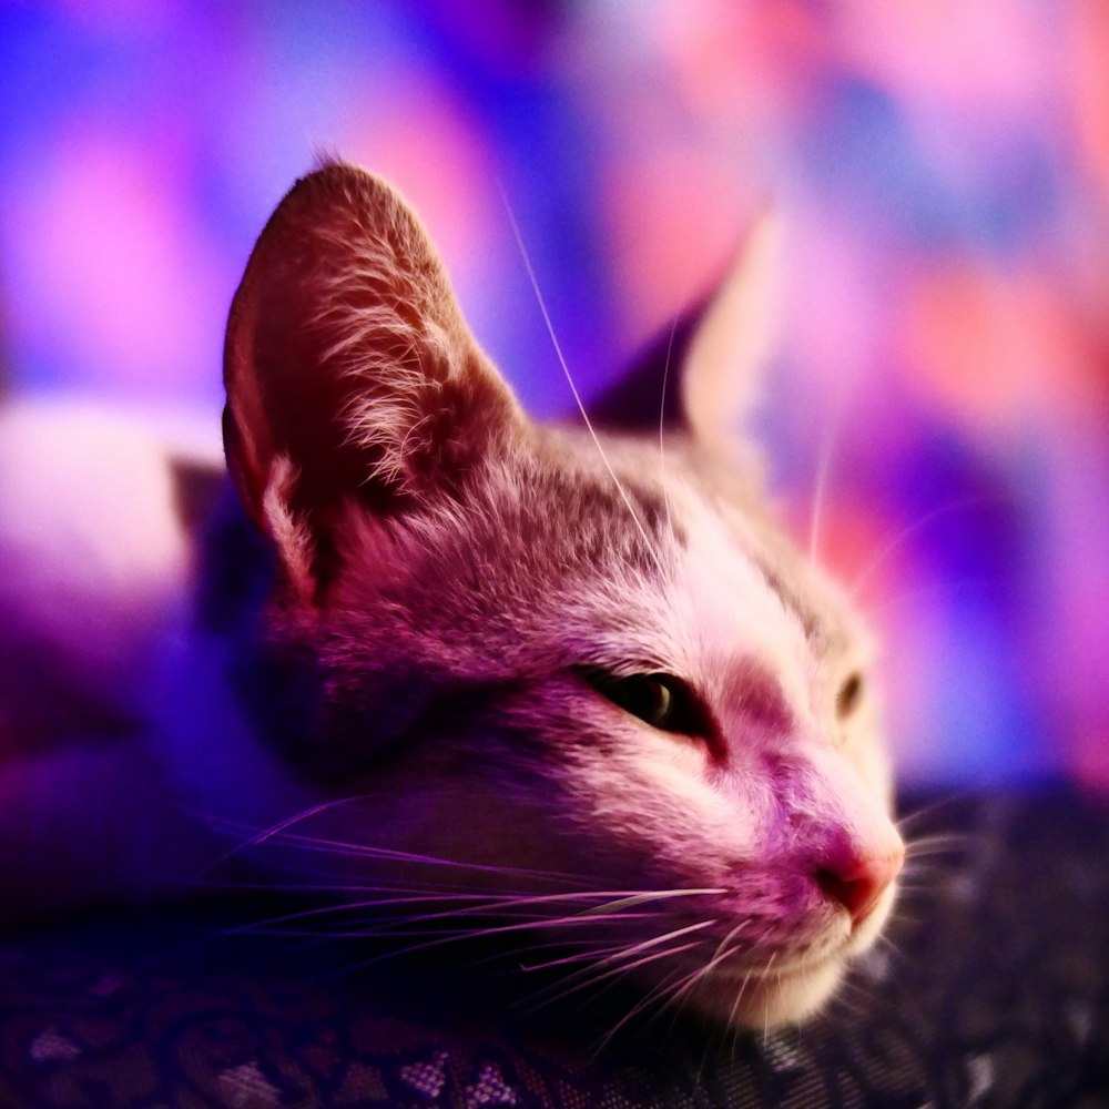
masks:
{"type": "Polygon", "coordinates": [[[828,1000],[845,965],[836,955],[784,971],[722,976],[702,983],[691,1001],[706,1016],[744,1028],[800,1024],[828,1000]]]}

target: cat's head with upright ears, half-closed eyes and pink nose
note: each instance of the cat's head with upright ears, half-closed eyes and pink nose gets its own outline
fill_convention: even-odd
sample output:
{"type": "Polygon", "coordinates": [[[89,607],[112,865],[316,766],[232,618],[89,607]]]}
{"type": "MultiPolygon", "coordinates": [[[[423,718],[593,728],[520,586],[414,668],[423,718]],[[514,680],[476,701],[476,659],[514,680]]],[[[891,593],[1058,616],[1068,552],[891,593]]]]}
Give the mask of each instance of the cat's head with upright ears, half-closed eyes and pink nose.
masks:
{"type": "Polygon", "coordinates": [[[594,441],[526,417],[410,208],[327,164],[252,255],[224,413],[328,834],[757,1025],[828,996],[903,857],[865,630],[740,449],[773,241],[690,328],[670,430],[594,441]]]}

